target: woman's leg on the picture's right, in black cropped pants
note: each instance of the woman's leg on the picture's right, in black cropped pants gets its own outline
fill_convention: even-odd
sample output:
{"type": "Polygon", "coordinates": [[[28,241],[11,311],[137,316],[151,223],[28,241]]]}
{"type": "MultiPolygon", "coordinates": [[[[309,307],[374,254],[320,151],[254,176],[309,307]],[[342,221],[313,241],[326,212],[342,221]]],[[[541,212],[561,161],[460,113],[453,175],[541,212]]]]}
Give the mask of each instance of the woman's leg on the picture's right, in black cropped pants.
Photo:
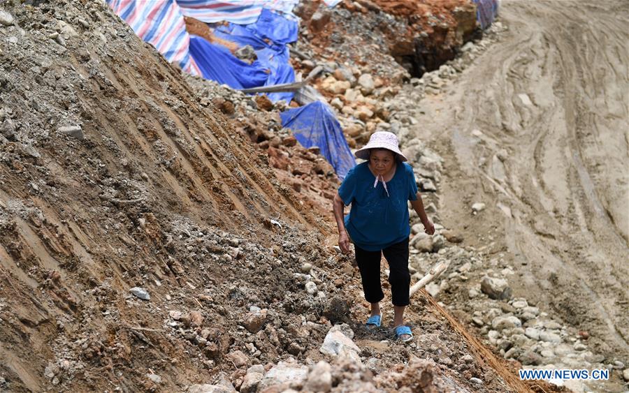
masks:
{"type": "MultiPolygon", "coordinates": [[[[410,304],[408,271],[408,238],[382,250],[386,262],[389,262],[389,283],[393,301],[393,326],[404,325],[404,310],[410,304]]],[[[404,337],[403,337],[404,339],[404,337]]]]}

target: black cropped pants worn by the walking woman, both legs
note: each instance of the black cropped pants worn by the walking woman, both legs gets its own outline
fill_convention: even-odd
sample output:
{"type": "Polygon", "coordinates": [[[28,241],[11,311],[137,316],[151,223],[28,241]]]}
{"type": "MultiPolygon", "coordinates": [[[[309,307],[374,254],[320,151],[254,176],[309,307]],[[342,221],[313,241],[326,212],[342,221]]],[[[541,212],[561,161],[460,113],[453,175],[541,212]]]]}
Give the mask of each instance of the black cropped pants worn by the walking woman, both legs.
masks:
{"type": "Polygon", "coordinates": [[[365,299],[370,303],[377,303],[384,298],[380,284],[380,258],[384,253],[386,262],[389,262],[389,283],[391,284],[391,297],[393,306],[408,306],[410,286],[410,273],[408,272],[408,238],[402,242],[386,247],[381,251],[365,251],[354,244],[356,249],[356,264],[361,270],[363,280],[363,292],[365,299]]]}

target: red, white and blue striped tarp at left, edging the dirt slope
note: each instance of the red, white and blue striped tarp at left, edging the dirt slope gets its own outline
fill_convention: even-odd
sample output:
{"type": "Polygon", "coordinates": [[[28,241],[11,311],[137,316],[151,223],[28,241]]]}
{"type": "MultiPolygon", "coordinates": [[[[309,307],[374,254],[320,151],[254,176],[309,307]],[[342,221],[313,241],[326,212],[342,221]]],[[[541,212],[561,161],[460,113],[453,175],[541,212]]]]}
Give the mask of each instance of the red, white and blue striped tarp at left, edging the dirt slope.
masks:
{"type": "Polygon", "coordinates": [[[189,53],[190,36],[175,0],[107,0],[136,34],[171,63],[191,75],[201,75],[189,53]]]}

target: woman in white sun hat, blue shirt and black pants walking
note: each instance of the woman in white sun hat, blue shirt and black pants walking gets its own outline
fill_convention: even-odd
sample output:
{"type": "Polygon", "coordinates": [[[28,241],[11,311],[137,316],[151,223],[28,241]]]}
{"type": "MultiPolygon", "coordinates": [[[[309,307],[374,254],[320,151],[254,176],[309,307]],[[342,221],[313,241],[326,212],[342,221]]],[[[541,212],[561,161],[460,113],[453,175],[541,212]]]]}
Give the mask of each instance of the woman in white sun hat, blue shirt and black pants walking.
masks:
{"type": "Polygon", "coordinates": [[[367,320],[369,329],[379,327],[382,322],[380,301],[384,293],[380,284],[380,259],[384,254],[389,263],[393,326],[396,337],[407,342],[412,340],[410,327],[404,325],[410,286],[407,201],[410,200],[428,235],[433,235],[435,226],[426,216],[413,170],[405,163],[407,159],[400,152],[395,134],[386,131],[373,133],[368,144],[357,150],[355,155],[367,161],[347,173],[334,197],[338,245],[343,253],[349,253],[350,239],[354,243],[363,292],[371,304],[367,320]],[[352,208],[343,218],[343,205],[350,204],[352,208]]]}

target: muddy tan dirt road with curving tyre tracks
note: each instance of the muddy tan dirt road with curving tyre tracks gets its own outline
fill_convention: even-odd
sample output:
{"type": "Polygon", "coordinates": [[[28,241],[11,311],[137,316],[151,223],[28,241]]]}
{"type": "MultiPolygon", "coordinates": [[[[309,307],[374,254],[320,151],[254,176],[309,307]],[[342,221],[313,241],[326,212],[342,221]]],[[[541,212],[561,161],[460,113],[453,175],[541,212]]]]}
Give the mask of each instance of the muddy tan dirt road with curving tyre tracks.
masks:
{"type": "Polygon", "coordinates": [[[511,260],[514,295],[626,362],[629,3],[505,1],[501,17],[500,43],[421,106],[417,135],[446,159],[444,224],[511,260]]]}

